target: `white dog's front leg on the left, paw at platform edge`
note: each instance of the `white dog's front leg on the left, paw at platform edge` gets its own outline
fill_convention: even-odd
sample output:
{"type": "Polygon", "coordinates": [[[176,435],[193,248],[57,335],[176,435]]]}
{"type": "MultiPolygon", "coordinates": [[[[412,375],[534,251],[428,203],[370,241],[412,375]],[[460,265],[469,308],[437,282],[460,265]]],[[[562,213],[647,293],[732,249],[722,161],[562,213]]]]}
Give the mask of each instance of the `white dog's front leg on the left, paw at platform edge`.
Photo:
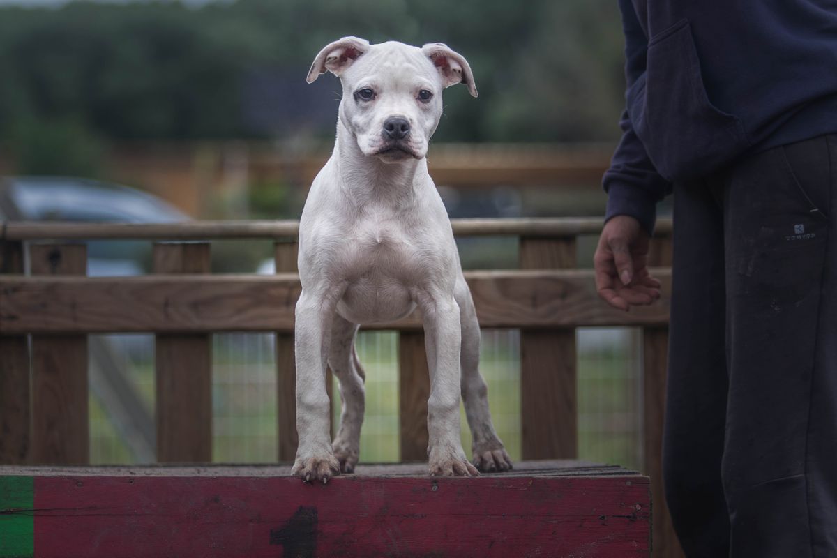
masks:
{"type": "Polygon", "coordinates": [[[323,484],[340,474],[331,450],[331,402],[326,392],[326,358],[336,297],[328,289],[303,289],[296,303],[296,433],[299,445],[291,474],[323,484]]]}

